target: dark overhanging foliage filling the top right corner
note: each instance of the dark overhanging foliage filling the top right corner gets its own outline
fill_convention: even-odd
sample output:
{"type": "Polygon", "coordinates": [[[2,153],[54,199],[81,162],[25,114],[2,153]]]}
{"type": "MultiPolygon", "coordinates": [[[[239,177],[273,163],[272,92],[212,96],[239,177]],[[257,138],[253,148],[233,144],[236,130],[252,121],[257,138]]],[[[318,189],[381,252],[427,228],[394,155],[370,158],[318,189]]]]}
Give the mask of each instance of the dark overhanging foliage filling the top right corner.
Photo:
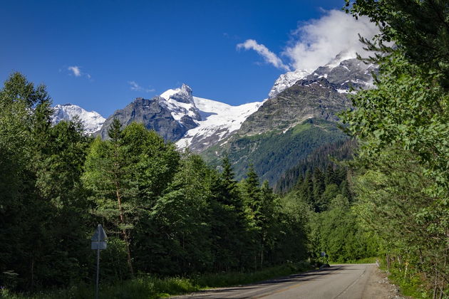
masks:
{"type": "MultiPolygon", "coordinates": [[[[438,82],[449,87],[448,3],[445,0],[356,0],[346,1],[346,12],[368,16],[376,22],[381,34],[368,43],[384,53],[395,50],[425,72],[439,73],[438,82]]],[[[365,40],[365,42],[368,42],[365,40]]],[[[381,58],[378,54],[377,58],[381,58]]],[[[381,59],[382,60],[382,59],[381,59]]]]}

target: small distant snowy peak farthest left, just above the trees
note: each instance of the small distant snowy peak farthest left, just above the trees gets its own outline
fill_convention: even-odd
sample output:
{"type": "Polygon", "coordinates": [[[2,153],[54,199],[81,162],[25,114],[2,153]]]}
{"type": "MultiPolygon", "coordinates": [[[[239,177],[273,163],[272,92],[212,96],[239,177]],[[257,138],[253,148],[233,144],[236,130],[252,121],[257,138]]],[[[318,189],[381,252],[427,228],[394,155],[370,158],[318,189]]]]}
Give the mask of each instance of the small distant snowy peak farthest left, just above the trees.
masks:
{"type": "Polygon", "coordinates": [[[63,105],[56,105],[53,107],[53,116],[51,122],[57,124],[61,120],[73,120],[78,117],[84,125],[86,133],[93,134],[100,130],[101,126],[105,122],[105,118],[95,111],[86,111],[78,105],[70,103],[63,105]]]}

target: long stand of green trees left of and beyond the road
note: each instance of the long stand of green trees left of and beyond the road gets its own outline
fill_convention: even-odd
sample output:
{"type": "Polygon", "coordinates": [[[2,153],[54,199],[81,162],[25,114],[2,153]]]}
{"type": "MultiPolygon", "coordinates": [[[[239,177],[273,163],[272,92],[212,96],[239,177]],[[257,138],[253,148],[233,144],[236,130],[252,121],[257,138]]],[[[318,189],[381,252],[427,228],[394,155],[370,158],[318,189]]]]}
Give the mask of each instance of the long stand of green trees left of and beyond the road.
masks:
{"type": "Polygon", "coordinates": [[[110,283],[313,263],[321,251],[334,261],[376,254],[358,237],[346,167],[316,167],[279,196],[252,167],[237,182],[227,158],[212,169],[138,123],[115,120],[108,140],[87,137],[79,122],[51,125],[45,87],[20,73],[0,95],[0,266],[9,290],[93,283],[97,224],[109,237],[101,273],[110,283]]]}

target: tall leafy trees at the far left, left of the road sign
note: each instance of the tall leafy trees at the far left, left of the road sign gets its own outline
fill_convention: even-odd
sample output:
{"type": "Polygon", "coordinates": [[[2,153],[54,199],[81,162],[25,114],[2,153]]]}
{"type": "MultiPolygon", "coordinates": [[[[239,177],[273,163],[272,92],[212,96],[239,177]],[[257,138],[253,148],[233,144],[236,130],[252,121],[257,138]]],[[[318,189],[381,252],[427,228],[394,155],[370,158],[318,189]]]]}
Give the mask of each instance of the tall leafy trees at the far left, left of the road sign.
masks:
{"type": "Polygon", "coordinates": [[[15,273],[21,289],[86,275],[80,175],[89,140],[79,124],[51,127],[50,104],[45,87],[19,73],[0,90],[0,273],[15,273]]]}

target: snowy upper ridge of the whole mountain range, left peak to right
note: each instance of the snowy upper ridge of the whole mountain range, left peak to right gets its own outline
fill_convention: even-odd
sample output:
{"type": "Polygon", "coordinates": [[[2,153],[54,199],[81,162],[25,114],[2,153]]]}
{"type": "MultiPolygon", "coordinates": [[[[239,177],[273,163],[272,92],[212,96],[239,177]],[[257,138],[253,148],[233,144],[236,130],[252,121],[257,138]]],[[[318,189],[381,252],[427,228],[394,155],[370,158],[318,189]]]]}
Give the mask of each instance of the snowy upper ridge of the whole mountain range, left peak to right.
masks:
{"type": "MultiPolygon", "coordinates": [[[[278,97],[279,93],[287,92],[295,83],[310,85],[312,89],[314,89],[312,85],[319,87],[326,85],[336,93],[349,93],[351,88],[372,88],[371,73],[376,73],[376,65],[366,65],[354,58],[354,55],[340,53],[316,70],[284,73],[274,83],[269,98],[260,102],[232,106],[216,100],[195,97],[192,88],[182,84],[180,88],[166,90],[160,96],[151,99],[135,98],[126,107],[115,110],[107,120],[97,112],[88,112],[77,105],[56,105],[53,123],[72,120],[78,115],[88,134],[95,133],[103,139],[108,139],[108,127],[114,118],[120,120],[123,126],[131,122],[142,122],[148,130],[155,130],[165,140],[176,142],[180,149],[189,147],[193,152],[202,152],[219,142],[224,145],[228,137],[241,130],[242,125],[248,127],[245,123],[254,118],[254,112],[257,112],[262,105],[269,105],[273,101],[282,102],[281,98],[285,95],[278,97]]],[[[319,91],[314,90],[311,95],[318,93],[319,91]]],[[[265,117],[264,114],[270,115],[275,112],[264,111],[259,113],[262,118],[265,117]]],[[[295,115],[297,116],[297,113],[295,115]]],[[[299,121],[295,115],[291,117],[299,121]]],[[[262,130],[264,126],[258,127],[262,130]]]]}

